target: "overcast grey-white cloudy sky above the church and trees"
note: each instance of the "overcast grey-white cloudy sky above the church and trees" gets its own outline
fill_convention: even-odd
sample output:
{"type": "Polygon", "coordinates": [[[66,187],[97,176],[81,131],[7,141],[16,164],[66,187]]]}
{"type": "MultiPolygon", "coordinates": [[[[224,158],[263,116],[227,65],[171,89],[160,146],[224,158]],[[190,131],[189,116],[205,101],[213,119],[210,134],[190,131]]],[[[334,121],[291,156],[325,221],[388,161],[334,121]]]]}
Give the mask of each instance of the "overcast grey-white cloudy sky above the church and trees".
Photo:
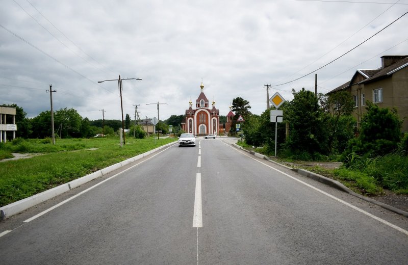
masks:
{"type": "Polygon", "coordinates": [[[74,108],[90,120],[182,115],[201,80],[221,115],[235,97],[251,111],[269,96],[291,100],[292,88],[326,93],[356,69],[380,67],[384,55],[408,54],[408,0],[164,1],[1,0],[0,104],[16,103],[37,116],[74,108]],[[350,3],[358,2],[358,3],[350,3]],[[370,2],[370,3],[362,3],[370,2]],[[373,2],[381,2],[375,4],[373,2]],[[387,4],[388,3],[388,4],[387,4]],[[290,83],[288,83],[290,82],[290,83]],[[288,83],[281,85],[283,83],[288,83]]]}

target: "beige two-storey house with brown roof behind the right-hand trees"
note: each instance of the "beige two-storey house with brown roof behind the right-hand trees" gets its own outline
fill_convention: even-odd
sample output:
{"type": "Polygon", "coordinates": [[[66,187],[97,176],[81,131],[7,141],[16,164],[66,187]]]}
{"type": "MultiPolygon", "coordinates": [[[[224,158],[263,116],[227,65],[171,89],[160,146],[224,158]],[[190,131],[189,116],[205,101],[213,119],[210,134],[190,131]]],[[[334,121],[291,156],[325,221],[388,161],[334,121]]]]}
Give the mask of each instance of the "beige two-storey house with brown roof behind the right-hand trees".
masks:
{"type": "Polygon", "coordinates": [[[369,100],[380,108],[395,108],[403,119],[402,131],[408,131],[408,55],[382,56],[380,68],[358,69],[350,81],[327,94],[341,90],[348,91],[353,98],[357,126],[369,100]]]}

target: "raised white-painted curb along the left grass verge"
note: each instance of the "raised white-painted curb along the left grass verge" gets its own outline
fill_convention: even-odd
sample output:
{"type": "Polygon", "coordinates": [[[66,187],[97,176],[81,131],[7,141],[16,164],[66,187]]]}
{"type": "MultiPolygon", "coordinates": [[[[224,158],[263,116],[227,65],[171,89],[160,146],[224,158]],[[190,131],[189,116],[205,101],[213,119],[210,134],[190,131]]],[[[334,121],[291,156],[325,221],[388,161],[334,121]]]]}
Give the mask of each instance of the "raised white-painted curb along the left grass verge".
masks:
{"type": "Polygon", "coordinates": [[[21,211],[23,210],[27,210],[30,207],[33,207],[43,201],[46,201],[48,199],[54,198],[58,195],[61,195],[67,191],[70,191],[74,188],[77,188],[78,186],[81,186],[82,184],[85,184],[95,178],[101,177],[103,175],[106,175],[116,169],[119,169],[127,164],[130,164],[132,162],[138,161],[143,157],[146,157],[149,154],[152,154],[154,152],[157,152],[163,148],[166,148],[168,146],[174,145],[177,142],[172,142],[172,143],[168,143],[166,145],[160,146],[158,148],[155,148],[153,150],[147,151],[143,154],[139,154],[137,156],[131,157],[127,160],[124,160],[122,162],[119,162],[117,164],[114,164],[112,166],[109,166],[107,168],[95,171],[91,174],[88,174],[86,176],[74,179],[72,181],[69,181],[65,184],[61,184],[60,186],[57,186],[53,189],[47,190],[47,191],[43,191],[41,193],[38,193],[36,195],[30,196],[28,198],[10,203],[8,205],[5,205],[3,207],[0,207],[0,219],[4,220],[10,216],[16,215],[21,213],[21,211]]]}

